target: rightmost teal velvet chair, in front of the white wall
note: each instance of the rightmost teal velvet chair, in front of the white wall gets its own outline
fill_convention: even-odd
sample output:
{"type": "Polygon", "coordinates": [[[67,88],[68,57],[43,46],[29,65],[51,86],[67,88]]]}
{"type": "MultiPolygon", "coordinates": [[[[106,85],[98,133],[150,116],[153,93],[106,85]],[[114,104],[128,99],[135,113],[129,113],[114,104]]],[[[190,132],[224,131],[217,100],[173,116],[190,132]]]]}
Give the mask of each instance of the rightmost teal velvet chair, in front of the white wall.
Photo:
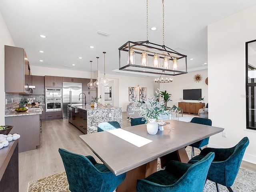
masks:
{"type": "Polygon", "coordinates": [[[204,148],[198,156],[192,158],[188,163],[194,164],[204,158],[209,152],[214,152],[215,157],[210,166],[207,179],[215,182],[217,192],[219,192],[218,184],[226,186],[228,191],[233,192],[231,186],[236,179],[248,145],[249,139],[244,137],[232,148],[204,148]]]}

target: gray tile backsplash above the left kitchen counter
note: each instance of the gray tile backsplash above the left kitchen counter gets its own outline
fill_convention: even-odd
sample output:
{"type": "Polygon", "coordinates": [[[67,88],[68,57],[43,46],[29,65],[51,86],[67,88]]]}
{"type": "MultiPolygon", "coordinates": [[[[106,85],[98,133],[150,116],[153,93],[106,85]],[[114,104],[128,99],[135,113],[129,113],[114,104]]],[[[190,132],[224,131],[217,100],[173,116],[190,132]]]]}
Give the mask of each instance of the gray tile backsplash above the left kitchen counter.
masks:
{"type": "Polygon", "coordinates": [[[5,114],[8,114],[12,110],[16,109],[21,100],[33,98],[34,102],[40,102],[40,104],[45,104],[44,95],[19,95],[17,93],[6,93],[5,94],[5,114]]]}

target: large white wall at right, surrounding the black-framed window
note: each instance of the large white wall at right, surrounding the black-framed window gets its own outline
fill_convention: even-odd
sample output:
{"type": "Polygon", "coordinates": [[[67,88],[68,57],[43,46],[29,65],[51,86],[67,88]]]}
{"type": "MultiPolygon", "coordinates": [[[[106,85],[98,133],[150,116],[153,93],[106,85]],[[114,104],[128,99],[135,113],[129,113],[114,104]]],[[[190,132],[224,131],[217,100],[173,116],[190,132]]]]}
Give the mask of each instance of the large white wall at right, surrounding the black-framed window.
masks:
{"type": "Polygon", "coordinates": [[[210,137],[212,146],[228,148],[247,136],[244,160],[256,164],[256,132],[246,131],[245,42],[256,39],[256,6],[208,26],[209,118],[225,128],[210,137]]]}

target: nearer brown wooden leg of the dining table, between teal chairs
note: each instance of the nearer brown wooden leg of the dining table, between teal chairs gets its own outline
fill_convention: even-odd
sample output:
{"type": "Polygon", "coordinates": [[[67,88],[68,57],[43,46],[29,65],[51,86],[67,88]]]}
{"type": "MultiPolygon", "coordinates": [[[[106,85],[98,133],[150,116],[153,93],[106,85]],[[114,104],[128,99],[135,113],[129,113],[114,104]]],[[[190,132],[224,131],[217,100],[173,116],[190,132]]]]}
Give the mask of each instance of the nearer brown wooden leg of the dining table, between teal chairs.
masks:
{"type": "Polygon", "coordinates": [[[116,192],[136,192],[137,179],[144,179],[157,171],[157,159],[126,172],[126,178],[116,192]]]}

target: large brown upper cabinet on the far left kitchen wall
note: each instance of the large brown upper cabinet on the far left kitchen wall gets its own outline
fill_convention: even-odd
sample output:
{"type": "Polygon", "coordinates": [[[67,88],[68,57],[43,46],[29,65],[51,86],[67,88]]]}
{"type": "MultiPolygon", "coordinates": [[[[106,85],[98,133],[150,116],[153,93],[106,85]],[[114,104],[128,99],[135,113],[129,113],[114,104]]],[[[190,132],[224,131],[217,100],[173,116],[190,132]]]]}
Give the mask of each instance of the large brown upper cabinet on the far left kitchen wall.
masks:
{"type": "Polygon", "coordinates": [[[29,94],[29,63],[24,48],[4,46],[5,92],[29,94]]]}

